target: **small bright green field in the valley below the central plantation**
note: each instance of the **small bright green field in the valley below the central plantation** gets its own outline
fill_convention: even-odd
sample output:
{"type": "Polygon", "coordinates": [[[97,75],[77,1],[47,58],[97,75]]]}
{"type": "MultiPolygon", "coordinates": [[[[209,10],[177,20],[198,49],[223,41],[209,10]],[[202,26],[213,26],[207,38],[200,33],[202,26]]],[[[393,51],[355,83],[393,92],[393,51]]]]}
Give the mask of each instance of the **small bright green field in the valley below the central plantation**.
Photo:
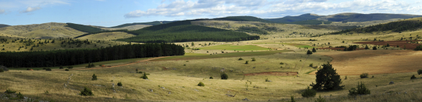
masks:
{"type": "Polygon", "coordinates": [[[236,50],[236,51],[257,51],[257,50],[268,50],[267,48],[260,47],[260,46],[253,46],[253,45],[245,45],[245,46],[234,46],[231,44],[224,44],[218,46],[206,46],[200,48],[201,50],[205,49],[219,49],[219,50],[236,50]]]}

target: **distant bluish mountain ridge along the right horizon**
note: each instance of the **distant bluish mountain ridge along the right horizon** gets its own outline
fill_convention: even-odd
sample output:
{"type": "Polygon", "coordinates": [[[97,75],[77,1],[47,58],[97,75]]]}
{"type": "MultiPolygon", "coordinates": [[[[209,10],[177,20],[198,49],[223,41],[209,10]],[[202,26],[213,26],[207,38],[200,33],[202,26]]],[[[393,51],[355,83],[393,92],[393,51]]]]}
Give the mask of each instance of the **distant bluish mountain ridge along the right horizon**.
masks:
{"type": "Polygon", "coordinates": [[[265,19],[275,23],[293,23],[304,20],[320,20],[328,22],[366,22],[373,20],[390,20],[393,18],[418,18],[422,15],[409,15],[409,14],[389,14],[389,13],[338,13],[334,15],[316,15],[312,13],[306,13],[298,16],[286,16],[283,18],[270,18],[265,19]]]}

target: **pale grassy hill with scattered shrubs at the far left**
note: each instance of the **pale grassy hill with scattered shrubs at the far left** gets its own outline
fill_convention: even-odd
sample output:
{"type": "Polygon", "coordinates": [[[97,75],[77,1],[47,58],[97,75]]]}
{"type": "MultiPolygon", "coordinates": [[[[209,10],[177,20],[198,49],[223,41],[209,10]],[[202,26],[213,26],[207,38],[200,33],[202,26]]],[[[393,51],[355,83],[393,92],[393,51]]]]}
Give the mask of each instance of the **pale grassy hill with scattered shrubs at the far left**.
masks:
{"type": "Polygon", "coordinates": [[[34,25],[15,25],[10,27],[1,27],[0,34],[15,35],[18,37],[30,38],[58,38],[58,37],[76,37],[84,34],[70,27],[65,27],[65,23],[43,23],[34,25]]]}

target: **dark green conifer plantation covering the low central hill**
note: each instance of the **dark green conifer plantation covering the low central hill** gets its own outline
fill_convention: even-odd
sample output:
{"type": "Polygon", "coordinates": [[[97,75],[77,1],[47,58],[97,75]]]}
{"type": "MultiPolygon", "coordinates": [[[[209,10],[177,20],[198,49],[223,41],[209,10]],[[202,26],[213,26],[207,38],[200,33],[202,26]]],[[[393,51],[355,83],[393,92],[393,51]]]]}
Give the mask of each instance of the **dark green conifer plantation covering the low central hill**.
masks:
{"type": "MultiPolygon", "coordinates": [[[[132,32],[132,31],[131,31],[132,32]]],[[[122,42],[237,42],[244,40],[260,39],[259,36],[251,36],[245,32],[235,32],[213,27],[203,27],[198,25],[179,25],[168,27],[158,31],[137,30],[133,33],[136,37],[117,39],[122,42]]]]}

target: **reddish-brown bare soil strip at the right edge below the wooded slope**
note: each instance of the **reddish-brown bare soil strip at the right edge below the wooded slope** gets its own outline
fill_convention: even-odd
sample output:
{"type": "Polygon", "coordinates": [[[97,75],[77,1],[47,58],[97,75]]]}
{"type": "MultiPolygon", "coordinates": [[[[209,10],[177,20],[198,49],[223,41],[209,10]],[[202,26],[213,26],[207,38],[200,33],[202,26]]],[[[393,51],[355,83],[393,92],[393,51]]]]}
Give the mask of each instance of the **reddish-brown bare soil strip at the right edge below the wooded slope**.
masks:
{"type": "MultiPolygon", "coordinates": [[[[411,42],[421,42],[421,40],[413,40],[411,42]]],[[[404,49],[404,46],[406,46],[406,49],[414,50],[416,46],[422,45],[422,44],[411,44],[410,41],[384,41],[384,42],[355,42],[354,44],[373,44],[373,45],[379,45],[384,46],[387,44],[390,44],[390,46],[399,46],[400,48],[404,49]]]]}

